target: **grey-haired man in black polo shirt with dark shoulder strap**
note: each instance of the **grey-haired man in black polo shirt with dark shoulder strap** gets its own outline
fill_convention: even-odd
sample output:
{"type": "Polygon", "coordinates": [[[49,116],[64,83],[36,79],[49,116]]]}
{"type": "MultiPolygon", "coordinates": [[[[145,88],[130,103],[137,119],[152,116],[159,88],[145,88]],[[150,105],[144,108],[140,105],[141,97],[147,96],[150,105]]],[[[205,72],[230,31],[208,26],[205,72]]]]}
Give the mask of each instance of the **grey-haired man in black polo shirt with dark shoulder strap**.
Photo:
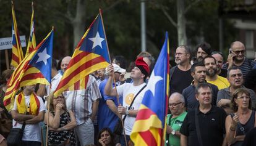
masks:
{"type": "Polygon", "coordinates": [[[222,145],[225,134],[226,113],[223,109],[211,105],[210,84],[198,84],[195,97],[199,106],[187,113],[181,126],[181,146],[222,145]]]}

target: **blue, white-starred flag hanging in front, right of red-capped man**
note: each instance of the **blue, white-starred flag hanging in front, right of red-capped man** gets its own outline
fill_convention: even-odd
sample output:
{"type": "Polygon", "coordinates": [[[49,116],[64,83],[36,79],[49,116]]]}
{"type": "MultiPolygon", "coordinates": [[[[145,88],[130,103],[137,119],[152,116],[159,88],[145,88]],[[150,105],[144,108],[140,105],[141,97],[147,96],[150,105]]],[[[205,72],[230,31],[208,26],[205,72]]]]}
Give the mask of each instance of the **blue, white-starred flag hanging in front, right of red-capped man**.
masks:
{"type": "Polygon", "coordinates": [[[168,101],[169,43],[168,33],[155,68],[148,80],[130,138],[135,145],[164,145],[168,101]]]}

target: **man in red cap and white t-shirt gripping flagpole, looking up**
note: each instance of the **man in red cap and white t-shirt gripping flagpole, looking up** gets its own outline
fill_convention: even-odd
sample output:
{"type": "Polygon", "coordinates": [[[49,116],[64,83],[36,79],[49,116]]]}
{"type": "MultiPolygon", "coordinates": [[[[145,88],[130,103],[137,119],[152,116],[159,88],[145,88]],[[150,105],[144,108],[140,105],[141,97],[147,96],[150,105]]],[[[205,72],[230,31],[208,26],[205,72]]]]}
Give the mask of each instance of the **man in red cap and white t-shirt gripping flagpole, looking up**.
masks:
{"type": "MultiPolygon", "coordinates": [[[[135,118],[143,99],[143,87],[147,85],[144,81],[150,70],[147,63],[143,60],[143,57],[137,58],[135,61],[135,67],[132,69],[132,73],[130,74],[130,78],[132,78],[134,82],[124,83],[121,86],[117,86],[117,90],[112,87],[112,81],[114,78],[113,65],[109,65],[107,71],[109,73],[109,78],[105,86],[105,94],[109,96],[116,96],[118,94],[123,97],[122,106],[118,106],[117,112],[123,116],[126,115],[126,119],[124,120],[124,129],[126,131],[127,141],[129,141],[130,133],[132,132],[132,127],[134,126],[135,118]],[[132,102],[133,100],[134,102],[132,102]]],[[[125,145],[124,131],[121,136],[121,145],[125,145]]]]}

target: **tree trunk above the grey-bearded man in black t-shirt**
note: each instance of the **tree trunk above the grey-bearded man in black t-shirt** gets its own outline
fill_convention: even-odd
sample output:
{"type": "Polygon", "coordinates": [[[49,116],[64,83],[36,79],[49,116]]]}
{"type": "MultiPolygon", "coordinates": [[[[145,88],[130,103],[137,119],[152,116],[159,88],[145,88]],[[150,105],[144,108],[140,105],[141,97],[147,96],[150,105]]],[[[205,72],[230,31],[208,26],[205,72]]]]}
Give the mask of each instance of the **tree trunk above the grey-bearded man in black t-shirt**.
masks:
{"type": "Polygon", "coordinates": [[[184,0],[177,0],[177,36],[179,45],[187,44],[184,0]]]}

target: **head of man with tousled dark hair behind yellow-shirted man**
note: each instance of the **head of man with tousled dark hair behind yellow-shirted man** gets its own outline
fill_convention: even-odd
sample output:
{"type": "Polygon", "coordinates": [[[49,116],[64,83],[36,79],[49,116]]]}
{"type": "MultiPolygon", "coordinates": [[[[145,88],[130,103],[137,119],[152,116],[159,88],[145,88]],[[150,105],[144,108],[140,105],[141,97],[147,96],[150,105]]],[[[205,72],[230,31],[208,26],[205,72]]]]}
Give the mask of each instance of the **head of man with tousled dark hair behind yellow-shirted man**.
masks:
{"type": "Polygon", "coordinates": [[[197,45],[197,62],[202,62],[205,57],[211,55],[211,46],[208,43],[201,43],[197,45]]]}

